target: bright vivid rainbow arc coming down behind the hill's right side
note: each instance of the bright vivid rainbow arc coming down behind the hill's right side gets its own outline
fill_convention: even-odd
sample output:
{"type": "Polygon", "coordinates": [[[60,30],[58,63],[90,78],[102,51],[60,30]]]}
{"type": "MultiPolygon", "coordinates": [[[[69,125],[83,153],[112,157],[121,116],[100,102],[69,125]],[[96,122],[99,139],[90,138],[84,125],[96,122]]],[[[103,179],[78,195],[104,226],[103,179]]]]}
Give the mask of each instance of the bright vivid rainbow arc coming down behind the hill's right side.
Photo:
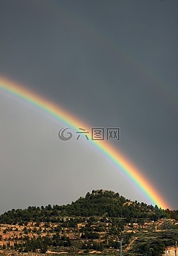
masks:
{"type": "MultiPolygon", "coordinates": [[[[11,82],[9,79],[0,77],[0,91],[6,92],[7,94],[13,95],[24,102],[28,102],[36,108],[40,108],[44,113],[48,113],[52,117],[62,121],[66,125],[69,125],[75,130],[78,130],[79,127],[89,130],[89,126],[83,123],[77,117],[73,117],[66,110],[62,109],[60,106],[46,100],[45,98],[38,96],[31,90],[24,88],[23,86],[17,84],[16,82],[11,82]]],[[[109,160],[114,163],[117,168],[122,170],[122,172],[132,181],[134,185],[139,189],[139,191],[146,195],[146,198],[152,203],[152,205],[158,205],[163,209],[166,209],[169,205],[159,195],[158,191],[152,187],[150,182],[142,176],[141,170],[138,170],[134,164],[132,164],[119,150],[114,148],[114,146],[109,145],[106,141],[93,141],[91,143],[101,151],[109,160]]]]}

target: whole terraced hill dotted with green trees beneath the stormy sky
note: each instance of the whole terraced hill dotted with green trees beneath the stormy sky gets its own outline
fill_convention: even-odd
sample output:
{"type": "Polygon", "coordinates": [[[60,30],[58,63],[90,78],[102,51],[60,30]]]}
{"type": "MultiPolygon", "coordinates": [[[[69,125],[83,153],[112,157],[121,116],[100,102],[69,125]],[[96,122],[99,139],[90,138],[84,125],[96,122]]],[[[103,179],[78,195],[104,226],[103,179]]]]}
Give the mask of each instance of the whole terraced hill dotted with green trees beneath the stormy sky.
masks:
{"type": "Polygon", "coordinates": [[[93,190],[68,205],[29,206],[0,216],[2,255],[118,254],[122,237],[124,255],[159,256],[178,239],[178,211],[93,190]]]}

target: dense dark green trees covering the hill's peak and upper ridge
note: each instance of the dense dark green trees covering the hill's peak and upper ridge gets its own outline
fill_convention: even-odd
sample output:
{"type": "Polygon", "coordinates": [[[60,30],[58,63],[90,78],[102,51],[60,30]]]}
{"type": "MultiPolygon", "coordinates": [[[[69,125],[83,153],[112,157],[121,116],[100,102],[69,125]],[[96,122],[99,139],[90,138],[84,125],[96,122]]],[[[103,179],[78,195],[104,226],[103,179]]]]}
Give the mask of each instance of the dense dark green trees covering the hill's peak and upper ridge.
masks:
{"type": "Polygon", "coordinates": [[[130,222],[133,218],[175,218],[178,220],[178,211],[161,210],[146,203],[139,203],[120,196],[113,191],[92,191],[85,198],[68,205],[47,205],[46,207],[29,206],[28,209],[11,210],[0,216],[0,223],[23,224],[26,222],[58,222],[58,216],[106,216],[126,218],[130,222]]]}

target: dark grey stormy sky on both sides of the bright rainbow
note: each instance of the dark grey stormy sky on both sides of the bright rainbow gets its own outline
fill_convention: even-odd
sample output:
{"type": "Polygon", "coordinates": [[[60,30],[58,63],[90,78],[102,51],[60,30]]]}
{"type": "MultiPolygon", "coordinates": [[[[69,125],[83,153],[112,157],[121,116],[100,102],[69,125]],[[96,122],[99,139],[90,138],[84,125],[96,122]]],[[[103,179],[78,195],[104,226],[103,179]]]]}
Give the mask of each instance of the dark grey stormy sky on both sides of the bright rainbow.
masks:
{"type": "MultiPolygon", "coordinates": [[[[120,127],[115,146],[173,208],[177,8],[166,0],[0,0],[0,75],[91,127],[120,127]]],[[[0,212],[70,203],[92,189],[148,202],[87,142],[59,141],[63,126],[0,92],[0,212]]]]}

